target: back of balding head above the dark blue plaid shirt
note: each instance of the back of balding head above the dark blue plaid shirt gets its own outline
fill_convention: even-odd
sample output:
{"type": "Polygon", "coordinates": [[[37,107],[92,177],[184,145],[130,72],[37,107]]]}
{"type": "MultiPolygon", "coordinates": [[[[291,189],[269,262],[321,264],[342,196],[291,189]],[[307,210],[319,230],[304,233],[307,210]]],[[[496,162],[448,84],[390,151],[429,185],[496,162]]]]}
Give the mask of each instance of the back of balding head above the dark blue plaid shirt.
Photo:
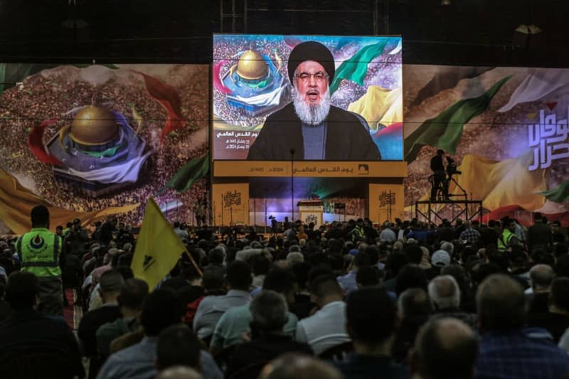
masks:
{"type": "Polygon", "coordinates": [[[526,322],[526,302],[521,284],[504,274],[491,274],[478,287],[479,329],[513,331],[526,322]]]}

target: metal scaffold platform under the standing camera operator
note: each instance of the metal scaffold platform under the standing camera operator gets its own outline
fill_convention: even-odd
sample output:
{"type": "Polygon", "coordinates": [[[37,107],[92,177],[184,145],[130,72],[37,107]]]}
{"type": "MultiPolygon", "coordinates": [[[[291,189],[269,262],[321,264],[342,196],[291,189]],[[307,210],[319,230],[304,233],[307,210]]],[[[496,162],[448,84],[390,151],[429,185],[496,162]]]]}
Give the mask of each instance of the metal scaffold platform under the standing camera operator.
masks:
{"type": "Polygon", "coordinates": [[[482,200],[418,200],[415,201],[415,218],[419,219],[419,216],[422,216],[430,223],[437,223],[437,219],[442,221],[445,219],[442,213],[446,205],[462,205],[462,210],[457,215],[453,215],[450,223],[454,223],[463,215],[465,220],[478,219],[479,223],[482,223],[482,200]],[[426,211],[420,210],[420,208],[425,208],[420,205],[426,205],[426,211]]]}

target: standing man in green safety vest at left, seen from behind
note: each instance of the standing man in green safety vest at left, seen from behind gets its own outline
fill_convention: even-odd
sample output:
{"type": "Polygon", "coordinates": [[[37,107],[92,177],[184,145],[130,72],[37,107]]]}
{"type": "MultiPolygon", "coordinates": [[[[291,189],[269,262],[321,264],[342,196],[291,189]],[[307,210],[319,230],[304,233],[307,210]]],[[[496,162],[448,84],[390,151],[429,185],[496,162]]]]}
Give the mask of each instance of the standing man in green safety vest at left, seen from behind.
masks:
{"type": "Polygon", "coordinates": [[[37,205],[31,210],[31,230],[16,242],[21,270],[31,272],[40,282],[40,304],[42,314],[63,316],[63,290],[59,258],[63,240],[49,230],[49,210],[37,205]]]}

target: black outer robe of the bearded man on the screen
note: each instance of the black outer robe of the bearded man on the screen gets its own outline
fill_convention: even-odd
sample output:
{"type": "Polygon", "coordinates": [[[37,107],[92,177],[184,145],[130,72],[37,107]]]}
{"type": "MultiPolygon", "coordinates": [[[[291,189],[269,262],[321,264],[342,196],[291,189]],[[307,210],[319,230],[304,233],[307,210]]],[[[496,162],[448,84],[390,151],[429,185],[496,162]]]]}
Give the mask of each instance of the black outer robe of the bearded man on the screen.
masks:
{"type": "MultiPolygon", "coordinates": [[[[371,139],[367,122],[358,114],[330,107],[324,159],[328,161],[378,161],[381,154],[371,139]]],[[[247,159],[253,161],[304,160],[302,123],[291,102],[267,117],[261,132],[251,145],[247,159]]]]}

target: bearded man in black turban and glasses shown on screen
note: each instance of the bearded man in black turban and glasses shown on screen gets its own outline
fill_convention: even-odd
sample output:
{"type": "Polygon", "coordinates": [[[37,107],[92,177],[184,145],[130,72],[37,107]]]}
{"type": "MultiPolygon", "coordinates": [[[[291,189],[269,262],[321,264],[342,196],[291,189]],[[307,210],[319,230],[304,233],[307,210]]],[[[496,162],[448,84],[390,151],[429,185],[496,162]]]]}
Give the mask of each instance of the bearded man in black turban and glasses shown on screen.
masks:
{"type": "Polygon", "coordinates": [[[267,117],[247,159],[378,161],[381,154],[360,115],[330,105],[334,57],[321,43],[300,43],[289,55],[293,101],[267,117]]]}

